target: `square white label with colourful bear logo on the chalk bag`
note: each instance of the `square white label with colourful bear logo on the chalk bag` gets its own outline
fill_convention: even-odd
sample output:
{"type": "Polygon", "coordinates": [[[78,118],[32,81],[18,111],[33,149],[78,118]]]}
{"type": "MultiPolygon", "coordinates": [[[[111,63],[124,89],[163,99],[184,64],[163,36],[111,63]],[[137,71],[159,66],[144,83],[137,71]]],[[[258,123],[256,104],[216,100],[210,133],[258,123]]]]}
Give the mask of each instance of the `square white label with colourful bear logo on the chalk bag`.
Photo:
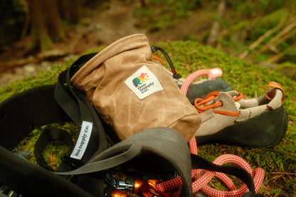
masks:
{"type": "Polygon", "coordinates": [[[139,100],[155,92],[164,90],[157,77],[155,77],[146,65],[127,78],[125,84],[139,97],[139,100]]]}

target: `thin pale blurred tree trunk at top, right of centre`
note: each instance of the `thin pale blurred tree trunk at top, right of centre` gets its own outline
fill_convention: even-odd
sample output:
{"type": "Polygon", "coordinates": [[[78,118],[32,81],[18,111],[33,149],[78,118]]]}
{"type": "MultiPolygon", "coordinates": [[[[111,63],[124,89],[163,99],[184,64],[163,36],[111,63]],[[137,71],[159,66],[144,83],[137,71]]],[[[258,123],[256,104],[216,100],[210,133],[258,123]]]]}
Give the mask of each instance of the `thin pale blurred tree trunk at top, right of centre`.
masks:
{"type": "Polygon", "coordinates": [[[221,21],[221,18],[224,17],[225,10],[226,10],[226,0],[219,0],[217,19],[215,22],[213,22],[211,33],[210,33],[210,36],[208,36],[208,41],[207,41],[207,45],[213,48],[216,48],[218,43],[219,31],[221,27],[219,21],[221,21]]]}

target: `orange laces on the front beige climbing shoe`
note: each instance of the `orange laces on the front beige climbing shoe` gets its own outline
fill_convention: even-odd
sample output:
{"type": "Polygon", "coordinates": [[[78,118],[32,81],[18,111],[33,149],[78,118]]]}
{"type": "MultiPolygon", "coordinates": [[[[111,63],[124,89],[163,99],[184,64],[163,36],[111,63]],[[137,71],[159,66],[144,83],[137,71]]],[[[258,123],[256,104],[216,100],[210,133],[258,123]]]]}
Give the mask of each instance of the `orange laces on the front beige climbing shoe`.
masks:
{"type": "MultiPolygon", "coordinates": [[[[196,110],[199,113],[205,112],[206,110],[210,110],[216,107],[220,107],[223,105],[223,103],[220,102],[214,102],[211,105],[208,105],[208,102],[211,102],[212,100],[214,100],[218,95],[220,94],[220,92],[211,92],[208,95],[206,95],[206,97],[202,98],[197,98],[194,101],[194,105],[196,110]],[[203,106],[202,106],[203,105],[203,106]]],[[[233,98],[234,101],[239,101],[243,98],[243,93],[242,92],[238,92],[238,97],[233,98]]],[[[227,112],[227,111],[222,111],[222,110],[213,110],[214,113],[216,114],[221,114],[221,115],[228,115],[228,116],[239,116],[240,112],[227,112]]]]}

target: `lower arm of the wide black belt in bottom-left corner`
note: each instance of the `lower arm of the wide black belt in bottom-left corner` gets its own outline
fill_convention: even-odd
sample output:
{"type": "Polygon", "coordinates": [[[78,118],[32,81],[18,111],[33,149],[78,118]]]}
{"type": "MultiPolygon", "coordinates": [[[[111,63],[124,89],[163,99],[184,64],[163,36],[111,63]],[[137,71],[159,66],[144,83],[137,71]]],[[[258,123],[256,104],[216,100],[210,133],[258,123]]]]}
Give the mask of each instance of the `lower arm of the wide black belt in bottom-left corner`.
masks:
{"type": "Polygon", "coordinates": [[[91,196],[88,191],[0,146],[0,182],[22,196],[91,196]]]}

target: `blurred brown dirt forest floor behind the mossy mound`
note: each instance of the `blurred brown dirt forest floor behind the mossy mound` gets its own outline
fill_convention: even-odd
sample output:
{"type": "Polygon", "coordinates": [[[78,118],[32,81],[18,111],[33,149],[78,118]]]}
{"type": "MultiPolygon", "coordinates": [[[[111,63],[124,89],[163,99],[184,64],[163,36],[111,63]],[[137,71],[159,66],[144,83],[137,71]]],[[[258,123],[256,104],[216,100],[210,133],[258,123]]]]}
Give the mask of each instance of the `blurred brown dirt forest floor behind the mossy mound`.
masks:
{"type": "Polygon", "coordinates": [[[109,45],[117,39],[134,33],[144,33],[151,43],[159,41],[178,41],[186,34],[203,35],[210,31],[215,11],[206,7],[193,11],[189,17],[173,29],[162,28],[160,31],[149,31],[140,27],[134,9],[139,4],[124,4],[113,0],[108,9],[84,10],[80,22],[75,26],[67,26],[68,40],[56,43],[53,50],[44,53],[25,54],[23,42],[12,44],[4,53],[0,53],[0,87],[9,82],[35,75],[38,70],[45,70],[53,64],[63,64],[65,59],[83,55],[92,48],[109,45]],[[202,16],[202,17],[201,17],[202,16]]]}

